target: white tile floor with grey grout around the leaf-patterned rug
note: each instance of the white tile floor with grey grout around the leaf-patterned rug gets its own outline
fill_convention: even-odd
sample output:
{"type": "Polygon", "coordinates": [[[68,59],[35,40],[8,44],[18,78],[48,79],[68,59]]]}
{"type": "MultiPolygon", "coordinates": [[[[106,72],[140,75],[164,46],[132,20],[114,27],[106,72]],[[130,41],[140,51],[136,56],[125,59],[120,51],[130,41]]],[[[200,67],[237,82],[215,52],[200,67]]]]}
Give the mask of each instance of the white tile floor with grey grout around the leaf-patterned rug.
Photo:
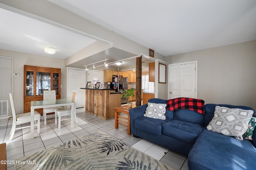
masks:
{"type": "MultiPolygon", "coordinates": [[[[102,130],[141,152],[160,160],[160,162],[175,170],[188,170],[187,156],[178,154],[142,138],[134,138],[132,135],[127,134],[127,128],[122,125],[119,125],[119,128],[116,129],[114,118],[105,121],[85,113],[84,108],[76,109],[76,113],[78,125],[75,123],[74,129],[70,129],[70,120],[62,121],[61,128],[58,129],[58,125],[54,123],[54,115],[48,115],[47,125],[41,122],[40,134],[36,134],[35,130],[34,139],[30,139],[30,128],[23,128],[16,130],[14,138],[9,141],[12,120],[0,120],[0,143],[6,142],[7,160],[15,160],[39,150],[61,144],[64,141],[102,130]]],[[[14,169],[14,165],[8,164],[7,168],[8,170],[12,170],[14,169]]]]}

